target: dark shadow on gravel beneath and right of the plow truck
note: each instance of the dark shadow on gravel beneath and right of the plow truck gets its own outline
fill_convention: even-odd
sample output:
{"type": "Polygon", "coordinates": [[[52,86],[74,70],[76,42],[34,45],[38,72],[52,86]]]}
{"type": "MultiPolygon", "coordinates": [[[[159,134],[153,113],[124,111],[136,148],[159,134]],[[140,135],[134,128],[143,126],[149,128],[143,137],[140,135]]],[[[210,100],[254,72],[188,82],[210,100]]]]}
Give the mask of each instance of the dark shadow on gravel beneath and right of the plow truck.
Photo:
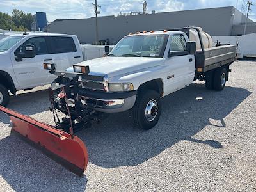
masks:
{"type": "Polygon", "coordinates": [[[252,92],[226,87],[222,92],[205,90],[203,84],[192,84],[163,99],[159,123],[149,131],[139,131],[132,122],[132,113],[112,114],[103,125],[80,132],[86,143],[89,161],[104,168],[134,166],[157,156],[181,140],[222,148],[218,141],[192,138],[196,133],[220,122],[213,129],[225,129],[223,118],[252,92]],[[196,100],[202,97],[202,100],[196,100]]]}

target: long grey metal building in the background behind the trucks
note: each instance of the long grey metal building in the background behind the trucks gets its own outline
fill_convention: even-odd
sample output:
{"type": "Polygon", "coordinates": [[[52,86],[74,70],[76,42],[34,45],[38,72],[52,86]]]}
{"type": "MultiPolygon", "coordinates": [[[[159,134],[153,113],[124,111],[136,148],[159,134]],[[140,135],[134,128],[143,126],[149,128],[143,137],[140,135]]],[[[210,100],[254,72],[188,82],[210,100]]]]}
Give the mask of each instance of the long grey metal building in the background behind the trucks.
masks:
{"type": "MultiPolygon", "coordinates": [[[[116,44],[120,38],[136,31],[202,26],[212,36],[242,35],[246,16],[233,6],[163,12],[145,15],[98,17],[99,40],[116,44]]],[[[77,35],[81,43],[95,42],[95,17],[88,19],[57,19],[47,26],[50,33],[77,35]]],[[[256,33],[256,23],[248,19],[246,33],[256,33]]]]}

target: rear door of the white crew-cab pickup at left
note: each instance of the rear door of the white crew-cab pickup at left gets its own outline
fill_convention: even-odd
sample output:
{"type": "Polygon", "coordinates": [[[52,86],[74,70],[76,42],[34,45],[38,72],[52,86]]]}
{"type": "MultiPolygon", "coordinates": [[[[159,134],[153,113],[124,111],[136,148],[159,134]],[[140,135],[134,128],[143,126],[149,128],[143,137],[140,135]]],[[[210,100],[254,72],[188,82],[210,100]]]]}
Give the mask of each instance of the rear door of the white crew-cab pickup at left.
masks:
{"type": "MultiPolygon", "coordinates": [[[[51,36],[51,42],[56,70],[65,71],[68,67],[83,61],[81,48],[76,46],[71,36],[51,36]]],[[[52,83],[56,76],[49,74],[47,84],[52,83]]]]}

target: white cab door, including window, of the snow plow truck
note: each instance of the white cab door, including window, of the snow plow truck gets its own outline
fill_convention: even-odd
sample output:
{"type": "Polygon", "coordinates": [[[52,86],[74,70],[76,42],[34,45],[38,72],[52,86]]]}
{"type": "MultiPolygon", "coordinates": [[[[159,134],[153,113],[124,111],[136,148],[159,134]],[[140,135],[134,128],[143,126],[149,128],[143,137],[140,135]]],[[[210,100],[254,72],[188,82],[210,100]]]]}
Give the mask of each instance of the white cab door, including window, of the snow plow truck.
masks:
{"type": "Polygon", "coordinates": [[[186,51],[186,39],[175,34],[170,40],[170,52],[166,58],[166,94],[175,92],[193,82],[195,76],[195,56],[186,51]]]}

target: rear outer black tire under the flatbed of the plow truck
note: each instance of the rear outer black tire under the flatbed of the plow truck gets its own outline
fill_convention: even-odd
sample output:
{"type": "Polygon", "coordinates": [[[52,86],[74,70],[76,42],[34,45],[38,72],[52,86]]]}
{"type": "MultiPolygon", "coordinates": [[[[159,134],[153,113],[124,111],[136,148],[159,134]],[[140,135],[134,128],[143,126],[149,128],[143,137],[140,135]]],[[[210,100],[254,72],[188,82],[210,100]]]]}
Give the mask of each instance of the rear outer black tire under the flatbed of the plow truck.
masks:
{"type": "Polygon", "coordinates": [[[214,72],[213,77],[213,88],[216,91],[221,91],[225,87],[227,81],[227,70],[226,68],[217,68],[214,72]],[[224,78],[225,77],[225,78],[224,78]]]}

